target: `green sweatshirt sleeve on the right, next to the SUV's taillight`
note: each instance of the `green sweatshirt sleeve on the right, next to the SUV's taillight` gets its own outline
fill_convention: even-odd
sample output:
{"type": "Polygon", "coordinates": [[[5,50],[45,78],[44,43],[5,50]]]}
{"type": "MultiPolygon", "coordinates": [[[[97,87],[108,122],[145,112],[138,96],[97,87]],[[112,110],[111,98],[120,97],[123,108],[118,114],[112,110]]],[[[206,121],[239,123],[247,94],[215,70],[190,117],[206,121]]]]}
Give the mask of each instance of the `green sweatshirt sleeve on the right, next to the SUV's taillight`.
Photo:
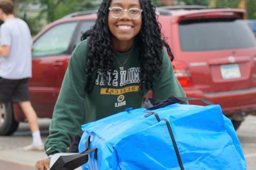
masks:
{"type": "MultiPolygon", "coordinates": [[[[173,66],[171,60],[169,59],[166,51],[162,50],[163,64],[161,69],[161,75],[159,79],[154,82],[153,85],[153,98],[159,100],[165,100],[171,94],[177,97],[185,97],[185,93],[181,88],[177,77],[174,75],[173,66]]],[[[188,104],[188,102],[183,102],[182,104],[188,104]]]]}

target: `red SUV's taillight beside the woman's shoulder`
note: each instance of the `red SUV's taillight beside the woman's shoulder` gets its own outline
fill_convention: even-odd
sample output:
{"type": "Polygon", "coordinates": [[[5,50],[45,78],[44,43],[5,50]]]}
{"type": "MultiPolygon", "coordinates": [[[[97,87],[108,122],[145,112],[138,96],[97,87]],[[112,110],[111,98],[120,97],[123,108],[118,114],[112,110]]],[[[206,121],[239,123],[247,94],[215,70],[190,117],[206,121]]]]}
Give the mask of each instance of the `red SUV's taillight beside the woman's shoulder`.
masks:
{"type": "Polygon", "coordinates": [[[191,74],[190,70],[182,61],[174,60],[172,61],[172,65],[174,68],[174,74],[177,77],[178,81],[180,82],[182,87],[190,87],[193,86],[193,83],[191,81],[191,74]]]}

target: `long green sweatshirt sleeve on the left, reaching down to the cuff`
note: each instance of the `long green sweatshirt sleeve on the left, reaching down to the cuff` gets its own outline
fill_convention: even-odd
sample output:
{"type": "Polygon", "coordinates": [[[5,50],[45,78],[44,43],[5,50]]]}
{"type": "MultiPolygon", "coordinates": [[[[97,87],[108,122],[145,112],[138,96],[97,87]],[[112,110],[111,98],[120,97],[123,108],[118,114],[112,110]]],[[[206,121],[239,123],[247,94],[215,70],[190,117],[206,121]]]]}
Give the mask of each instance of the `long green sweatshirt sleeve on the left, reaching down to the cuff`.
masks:
{"type": "Polygon", "coordinates": [[[47,155],[67,152],[75,136],[81,133],[84,120],[87,43],[80,43],[74,50],[64,76],[62,87],[53,111],[44,148],[47,155]]]}

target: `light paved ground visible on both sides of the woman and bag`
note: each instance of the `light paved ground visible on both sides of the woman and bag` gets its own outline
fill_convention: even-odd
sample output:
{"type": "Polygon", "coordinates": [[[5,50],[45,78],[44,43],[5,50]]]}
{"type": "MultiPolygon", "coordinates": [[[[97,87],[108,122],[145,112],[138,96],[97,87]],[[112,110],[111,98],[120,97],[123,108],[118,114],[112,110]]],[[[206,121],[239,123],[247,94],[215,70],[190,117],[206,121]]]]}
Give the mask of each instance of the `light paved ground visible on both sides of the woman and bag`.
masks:
{"type": "MultiPolygon", "coordinates": [[[[40,119],[42,138],[48,135],[50,119],[40,119]]],[[[237,131],[247,161],[247,170],[256,170],[256,116],[248,116],[237,131]]],[[[44,152],[25,152],[22,146],[31,143],[27,123],[21,123],[13,136],[0,137],[0,170],[32,170],[36,161],[47,156],[44,152]],[[4,168],[4,169],[3,169],[4,168]],[[22,169],[23,168],[23,169],[22,169]]]]}

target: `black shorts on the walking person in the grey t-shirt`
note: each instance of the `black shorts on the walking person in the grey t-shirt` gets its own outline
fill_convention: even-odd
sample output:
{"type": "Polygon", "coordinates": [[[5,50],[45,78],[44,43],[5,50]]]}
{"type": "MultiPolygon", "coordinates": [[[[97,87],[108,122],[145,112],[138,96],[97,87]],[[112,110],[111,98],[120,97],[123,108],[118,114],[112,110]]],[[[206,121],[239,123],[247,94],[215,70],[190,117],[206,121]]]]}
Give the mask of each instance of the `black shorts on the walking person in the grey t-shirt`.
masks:
{"type": "Polygon", "coordinates": [[[10,80],[0,77],[0,102],[29,101],[28,78],[10,80]]]}

